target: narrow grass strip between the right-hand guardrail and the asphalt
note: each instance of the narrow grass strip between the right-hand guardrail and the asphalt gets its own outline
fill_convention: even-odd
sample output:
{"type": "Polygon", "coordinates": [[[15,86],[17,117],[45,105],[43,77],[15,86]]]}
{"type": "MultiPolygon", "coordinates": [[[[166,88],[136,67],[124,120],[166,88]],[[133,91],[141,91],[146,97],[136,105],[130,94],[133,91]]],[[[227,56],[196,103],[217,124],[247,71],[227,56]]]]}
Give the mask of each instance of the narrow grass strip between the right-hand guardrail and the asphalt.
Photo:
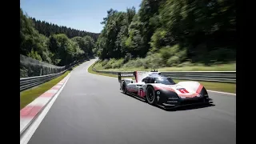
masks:
{"type": "MultiPolygon", "coordinates": [[[[130,70],[131,71],[131,70],[130,70]]],[[[117,75],[114,74],[102,74],[102,73],[97,73],[93,70],[93,65],[91,65],[88,69],[88,72],[91,74],[99,74],[99,75],[105,75],[108,77],[114,77],[114,78],[118,78],[117,75]]],[[[133,78],[134,77],[130,77],[133,78]]],[[[181,82],[184,80],[178,80],[178,79],[174,79],[174,82],[181,82]]],[[[216,91],[222,91],[222,92],[227,92],[227,93],[236,93],[236,84],[235,83],[225,83],[225,82],[200,82],[203,86],[206,87],[206,90],[216,90],[216,91]]]]}

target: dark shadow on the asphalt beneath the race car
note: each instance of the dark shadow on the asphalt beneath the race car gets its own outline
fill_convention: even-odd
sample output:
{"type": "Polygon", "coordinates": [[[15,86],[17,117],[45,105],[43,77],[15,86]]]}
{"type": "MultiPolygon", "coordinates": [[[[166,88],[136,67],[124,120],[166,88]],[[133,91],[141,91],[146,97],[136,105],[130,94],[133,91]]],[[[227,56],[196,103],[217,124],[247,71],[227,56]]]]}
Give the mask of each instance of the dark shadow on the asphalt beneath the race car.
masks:
{"type": "MultiPolygon", "coordinates": [[[[121,92],[121,93],[124,94],[123,92],[121,92]]],[[[145,100],[142,100],[141,98],[138,98],[138,97],[134,96],[133,94],[124,94],[124,95],[130,96],[130,98],[135,98],[136,100],[147,103],[145,100]]],[[[210,106],[215,106],[215,105],[210,103],[210,104],[204,104],[204,105],[181,106],[181,107],[177,107],[177,108],[174,108],[174,109],[165,109],[162,106],[154,105],[154,107],[157,107],[157,108],[160,108],[160,109],[166,110],[166,111],[195,110],[195,109],[202,109],[202,108],[206,108],[206,107],[210,107],[210,106]]]]}

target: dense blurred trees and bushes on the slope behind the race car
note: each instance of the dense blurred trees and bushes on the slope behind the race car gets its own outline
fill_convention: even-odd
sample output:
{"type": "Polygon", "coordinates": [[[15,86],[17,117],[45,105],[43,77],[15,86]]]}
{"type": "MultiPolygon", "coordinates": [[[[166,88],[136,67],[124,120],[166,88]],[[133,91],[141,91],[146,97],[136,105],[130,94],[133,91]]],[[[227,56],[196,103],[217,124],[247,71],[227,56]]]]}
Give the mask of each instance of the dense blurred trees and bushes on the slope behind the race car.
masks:
{"type": "Polygon", "coordinates": [[[123,58],[120,66],[235,61],[234,4],[234,0],[142,0],[138,13],[134,7],[126,12],[110,9],[95,51],[101,59],[123,58]]]}

